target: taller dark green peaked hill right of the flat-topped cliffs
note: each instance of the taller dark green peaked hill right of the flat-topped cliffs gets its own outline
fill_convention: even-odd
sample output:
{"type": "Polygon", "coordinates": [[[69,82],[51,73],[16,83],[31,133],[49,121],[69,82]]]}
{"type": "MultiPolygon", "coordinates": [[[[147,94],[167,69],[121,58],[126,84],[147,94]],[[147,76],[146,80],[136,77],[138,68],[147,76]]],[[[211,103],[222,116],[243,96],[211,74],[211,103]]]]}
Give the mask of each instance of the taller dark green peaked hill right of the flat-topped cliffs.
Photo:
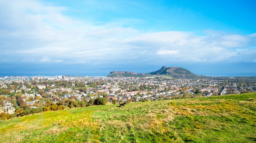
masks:
{"type": "Polygon", "coordinates": [[[151,75],[166,75],[166,76],[171,76],[171,77],[175,77],[175,78],[188,78],[188,79],[192,79],[192,78],[201,78],[201,76],[198,76],[192,72],[190,72],[187,69],[184,69],[182,67],[166,67],[163,66],[160,70],[158,71],[154,71],[154,72],[150,72],[148,74],[151,75]]]}

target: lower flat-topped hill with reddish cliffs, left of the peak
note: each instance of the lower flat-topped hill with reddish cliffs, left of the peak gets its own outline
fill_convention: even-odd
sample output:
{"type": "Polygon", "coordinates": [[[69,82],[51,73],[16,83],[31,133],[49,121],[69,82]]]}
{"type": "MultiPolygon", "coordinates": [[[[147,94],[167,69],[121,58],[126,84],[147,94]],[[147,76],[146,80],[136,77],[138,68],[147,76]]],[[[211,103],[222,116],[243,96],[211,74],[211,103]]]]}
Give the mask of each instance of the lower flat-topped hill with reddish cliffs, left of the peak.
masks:
{"type": "Polygon", "coordinates": [[[112,71],[107,77],[148,77],[150,74],[135,73],[129,71],[112,71]]]}

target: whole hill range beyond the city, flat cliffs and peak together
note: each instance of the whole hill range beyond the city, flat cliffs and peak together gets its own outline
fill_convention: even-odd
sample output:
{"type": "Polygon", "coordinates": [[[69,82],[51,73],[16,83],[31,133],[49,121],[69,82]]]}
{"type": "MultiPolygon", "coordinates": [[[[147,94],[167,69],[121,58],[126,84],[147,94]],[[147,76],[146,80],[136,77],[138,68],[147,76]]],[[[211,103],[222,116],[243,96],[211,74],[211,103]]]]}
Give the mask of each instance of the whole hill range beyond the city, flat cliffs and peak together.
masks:
{"type": "Polygon", "coordinates": [[[146,74],[129,72],[129,71],[112,71],[107,77],[150,77],[150,76],[167,76],[167,77],[188,78],[188,79],[202,78],[202,76],[198,76],[182,67],[166,67],[166,66],[163,66],[160,70],[146,73],[146,74]]]}

